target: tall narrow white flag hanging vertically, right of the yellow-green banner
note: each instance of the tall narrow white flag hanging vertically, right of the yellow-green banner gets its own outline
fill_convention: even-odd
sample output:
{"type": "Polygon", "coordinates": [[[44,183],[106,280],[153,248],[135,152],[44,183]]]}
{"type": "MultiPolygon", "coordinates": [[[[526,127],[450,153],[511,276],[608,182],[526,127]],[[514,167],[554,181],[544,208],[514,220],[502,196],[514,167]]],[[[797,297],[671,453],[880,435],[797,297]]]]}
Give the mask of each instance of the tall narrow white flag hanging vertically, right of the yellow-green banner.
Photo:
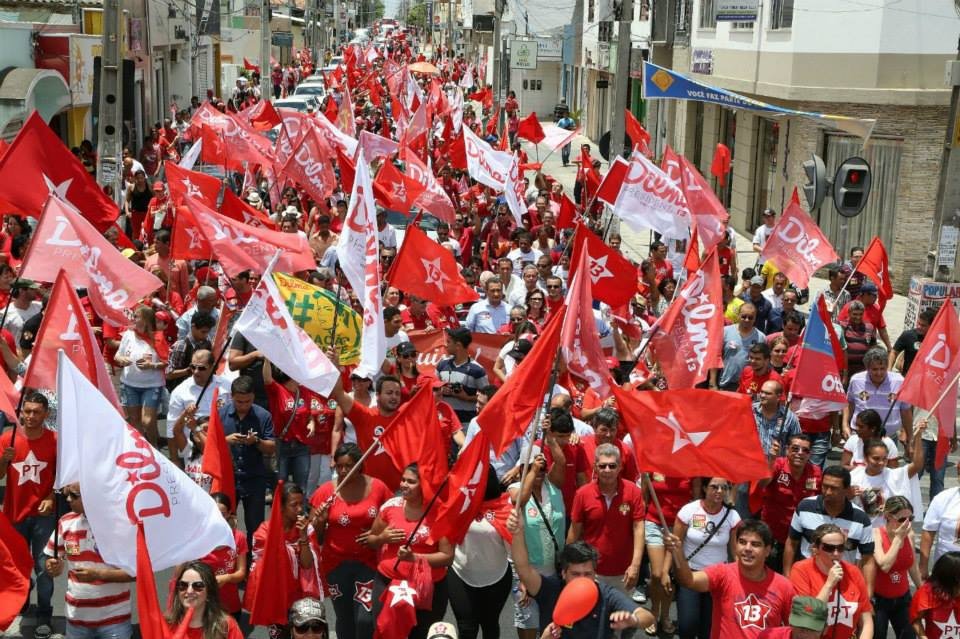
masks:
{"type": "MultiPolygon", "coordinates": [[[[361,153],[362,155],[362,153],[361,153]]],[[[353,178],[350,207],[337,242],[337,259],[350,287],[363,300],[362,351],[357,373],[373,377],[387,355],[380,297],[380,244],[370,169],[362,159],[353,178]]]]}

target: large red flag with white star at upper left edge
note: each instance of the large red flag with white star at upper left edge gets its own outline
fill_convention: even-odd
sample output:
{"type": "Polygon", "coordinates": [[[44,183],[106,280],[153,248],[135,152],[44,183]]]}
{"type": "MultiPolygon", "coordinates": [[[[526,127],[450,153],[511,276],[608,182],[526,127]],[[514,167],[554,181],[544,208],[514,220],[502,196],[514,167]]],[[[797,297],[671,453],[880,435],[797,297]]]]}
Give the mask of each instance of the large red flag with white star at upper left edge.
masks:
{"type": "Polygon", "coordinates": [[[99,232],[119,215],[113,200],[34,111],[0,158],[0,198],[39,218],[51,193],[69,202],[99,232]]]}

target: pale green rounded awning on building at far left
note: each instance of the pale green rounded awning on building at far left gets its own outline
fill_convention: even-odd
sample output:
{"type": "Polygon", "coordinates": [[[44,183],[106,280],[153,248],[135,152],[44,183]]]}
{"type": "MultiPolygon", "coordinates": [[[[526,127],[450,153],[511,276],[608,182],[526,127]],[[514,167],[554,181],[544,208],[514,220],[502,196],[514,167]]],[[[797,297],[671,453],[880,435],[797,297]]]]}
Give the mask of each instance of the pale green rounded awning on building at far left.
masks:
{"type": "Polygon", "coordinates": [[[31,111],[45,122],[73,104],[63,76],[50,69],[15,67],[0,76],[0,137],[16,135],[31,111]],[[8,130],[11,129],[11,130],[8,130]]]}

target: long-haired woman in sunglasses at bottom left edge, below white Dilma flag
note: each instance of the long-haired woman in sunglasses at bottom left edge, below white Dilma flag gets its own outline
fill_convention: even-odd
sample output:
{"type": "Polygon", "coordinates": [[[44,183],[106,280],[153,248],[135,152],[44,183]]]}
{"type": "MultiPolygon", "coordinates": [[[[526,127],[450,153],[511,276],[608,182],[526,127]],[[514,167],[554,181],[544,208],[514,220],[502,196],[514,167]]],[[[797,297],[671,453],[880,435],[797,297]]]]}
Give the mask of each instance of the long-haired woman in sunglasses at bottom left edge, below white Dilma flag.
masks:
{"type": "Polygon", "coordinates": [[[220,607],[217,578],[210,566],[200,561],[180,564],[173,583],[177,593],[167,613],[171,631],[183,622],[187,608],[192,608],[185,639],[243,639],[236,620],[220,607]]]}

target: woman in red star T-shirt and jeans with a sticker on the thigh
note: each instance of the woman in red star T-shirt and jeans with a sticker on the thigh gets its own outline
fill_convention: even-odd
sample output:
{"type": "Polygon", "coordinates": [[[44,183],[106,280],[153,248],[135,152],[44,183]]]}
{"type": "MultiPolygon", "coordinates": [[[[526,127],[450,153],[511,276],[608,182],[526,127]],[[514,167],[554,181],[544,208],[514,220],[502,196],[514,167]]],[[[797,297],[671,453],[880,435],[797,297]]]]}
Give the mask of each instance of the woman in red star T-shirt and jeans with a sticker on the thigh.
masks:
{"type": "MultiPolygon", "coordinates": [[[[334,453],[337,477],[346,477],[362,456],[356,444],[341,444],[334,453]]],[[[362,466],[340,486],[337,498],[333,497],[335,488],[329,481],[310,497],[323,546],[321,572],[337,613],[337,636],[371,639],[376,625],[373,579],[377,557],[369,542],[370,528],[393,491],[379,479],[364,475],[362,466]]]]}

